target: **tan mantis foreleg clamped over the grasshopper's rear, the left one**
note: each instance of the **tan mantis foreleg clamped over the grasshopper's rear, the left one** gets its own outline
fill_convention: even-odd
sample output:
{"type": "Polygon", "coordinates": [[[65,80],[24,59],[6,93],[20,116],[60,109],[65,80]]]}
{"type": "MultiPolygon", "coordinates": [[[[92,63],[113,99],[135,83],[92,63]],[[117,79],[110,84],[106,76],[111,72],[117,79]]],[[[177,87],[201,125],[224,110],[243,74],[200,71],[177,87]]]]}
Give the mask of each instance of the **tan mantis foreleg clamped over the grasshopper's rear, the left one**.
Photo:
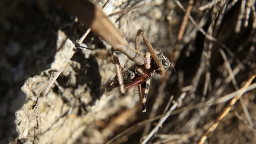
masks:
{"type": "Polygon", "coordinates": [[[113,59],[114,59],[114,64],[115,64],[116,75],[117,75],[117,78],[118,78],[118,83],[120,85],[120,93],[125,94],[127,88],[125,88],[125,85],[124,85],[122,67],[120,65],[118,57],[116,56],[115,50],[113,48],[111,48],[111,52],[112,52],[113,59]]]}

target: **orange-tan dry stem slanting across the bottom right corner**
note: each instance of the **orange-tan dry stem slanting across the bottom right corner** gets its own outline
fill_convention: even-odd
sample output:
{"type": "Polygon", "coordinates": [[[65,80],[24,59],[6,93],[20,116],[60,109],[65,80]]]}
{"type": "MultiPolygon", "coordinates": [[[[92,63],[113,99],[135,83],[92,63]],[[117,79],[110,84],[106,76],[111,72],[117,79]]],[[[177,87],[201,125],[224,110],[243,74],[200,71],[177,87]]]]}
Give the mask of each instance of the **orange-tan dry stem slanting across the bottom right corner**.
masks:
{"type": "MultiPolygon", "coordinates": [[[[254,71],[253,75],[246,81],[246,83],[243,85],[242,88],[247,88],[251,82],[253,81],[253,79],[256,76],[256,71],[254,71]]],[[[203,136],[201,137],[200,141],[198,144],[203,144],[205,142],[205,140],[207,139],[207,137],[217,128],[219,122],[229,113],[230,109],[232,108],[232,106],[236,103],[236,101],[243,95],[243,93],[245,92],[245,90],[243,92],[240,92],[240,94],[236,95],[236,97],[234,97],[229,104],[226,106],[226,108],[223,109],[223,111],[220,113],[220,115],[218,116],[218,118],[216,118],[216,120],[214,121],[214,123],[212,124],[212,126],[203,134],[203,136]]]]}

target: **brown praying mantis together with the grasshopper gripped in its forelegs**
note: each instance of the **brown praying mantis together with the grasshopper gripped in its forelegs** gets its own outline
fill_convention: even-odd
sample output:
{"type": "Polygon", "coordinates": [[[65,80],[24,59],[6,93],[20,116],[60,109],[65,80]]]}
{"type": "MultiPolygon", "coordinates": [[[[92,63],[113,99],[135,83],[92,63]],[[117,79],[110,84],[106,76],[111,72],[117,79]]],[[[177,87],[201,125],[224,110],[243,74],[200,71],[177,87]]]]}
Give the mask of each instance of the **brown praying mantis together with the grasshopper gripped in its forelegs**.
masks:
{"type": "MultiPolygon", "coordinates": [[[[146,111],[146,100],[150,85],[150,79],[155,75],[162,75],[164,70],[169,69],[171,62],[163,55],[161,50],[157,49],[160,53],[155,53],[147,37],[141,29],[138,30],[135,38],[135,49],[132,49],[122,39],[121,34],[115,28],[115,26],[108,20],[108,17],[102,13],[97,7],[87,0],[57,0],[63,7],[79,17],[79,20],[84,22],[90,29],[84,36],[81,37],[79,43],[76,43],[76,47],[82,47],[82,39],[92,29],[98,36],[101,36],[103,40],[112,45],[112,55],[114,59],[116,76],[111,79],[106,87],[104,95],[109,96],[115,92],[120,92],[124,95],[129,88],[138,87],[138,94],[140,97],[141,111],[146,111]],[[75,6],[75,8],[74,8],[75,6]],[[84,14],[85,13],[91,14],[84,14]],[[109,35],[108,33],[111,33],[109,35]],[[149,52],[143,55],[140,52],[140,36],[142,36],[144,44],[149,52]],[[116,56],[115,51],[122,52],[128,59],[135,62],[130,68],[125,70],[125,67],[120,65],[120,62],[116,56]]],[[[85,48],[85,47],[82,47],[85,48]]]]}

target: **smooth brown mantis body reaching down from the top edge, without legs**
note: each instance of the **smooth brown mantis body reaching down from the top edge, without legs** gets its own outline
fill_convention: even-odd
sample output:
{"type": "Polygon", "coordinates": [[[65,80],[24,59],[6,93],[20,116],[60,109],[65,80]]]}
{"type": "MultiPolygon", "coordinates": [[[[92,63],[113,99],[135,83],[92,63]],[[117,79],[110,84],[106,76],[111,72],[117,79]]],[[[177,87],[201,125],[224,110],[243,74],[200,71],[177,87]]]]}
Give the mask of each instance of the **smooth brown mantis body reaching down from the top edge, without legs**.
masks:
{"type": "Polygon", "coordinates": [[[144,64],[144,57],[140,52],[130,48],[125,43],[118,29],[107,16],[88,0],[57,0],[58,3],[77,16],[79,20],[92,29],[94,33],[108,42],[116,51],[124,53],[128,59],[139,65],[144,64]]]}

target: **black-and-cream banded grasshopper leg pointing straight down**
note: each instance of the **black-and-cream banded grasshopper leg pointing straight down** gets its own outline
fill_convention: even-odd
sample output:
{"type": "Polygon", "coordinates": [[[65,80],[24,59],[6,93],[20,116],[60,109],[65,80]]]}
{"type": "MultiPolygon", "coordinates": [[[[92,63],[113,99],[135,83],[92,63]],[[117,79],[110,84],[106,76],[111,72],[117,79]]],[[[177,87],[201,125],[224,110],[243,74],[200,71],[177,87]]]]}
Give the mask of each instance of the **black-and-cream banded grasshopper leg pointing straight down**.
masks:
{"type": "Polygon", "coordinates": [[[149,85],[150,85],[150,79],[138,86],[140,106],[141,106],[142,112],[147,111],[146,101],[148,96],[149,85]]]}

